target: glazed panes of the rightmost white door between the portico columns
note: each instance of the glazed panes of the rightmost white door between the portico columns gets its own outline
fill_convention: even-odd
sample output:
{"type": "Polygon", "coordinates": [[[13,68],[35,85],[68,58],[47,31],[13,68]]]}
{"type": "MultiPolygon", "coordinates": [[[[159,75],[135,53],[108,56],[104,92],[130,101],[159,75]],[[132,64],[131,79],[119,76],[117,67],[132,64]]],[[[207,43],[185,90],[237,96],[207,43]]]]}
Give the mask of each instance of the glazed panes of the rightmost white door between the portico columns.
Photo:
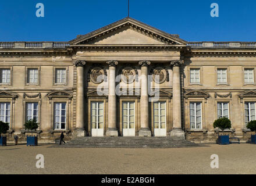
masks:
{"type": "Polygon", "coordinates": [[[166,128],[166,103],[154,102],[154,128],[166,128]]]}

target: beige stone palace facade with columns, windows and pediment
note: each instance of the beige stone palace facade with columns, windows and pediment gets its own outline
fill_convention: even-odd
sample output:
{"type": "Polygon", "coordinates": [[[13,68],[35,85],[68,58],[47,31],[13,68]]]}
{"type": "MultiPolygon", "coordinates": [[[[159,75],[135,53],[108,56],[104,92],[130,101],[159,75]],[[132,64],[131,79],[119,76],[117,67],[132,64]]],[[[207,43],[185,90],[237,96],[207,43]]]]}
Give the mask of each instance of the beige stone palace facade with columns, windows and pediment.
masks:
{"type": "Polygon", "coordinates": [[[9,140],[37,119],[41,141],[63,130],[207,142],[229,117],[226,133],[247,140],[255,56],[255,42],[187,42],[129,17],[69,42],[0,42],[0,120],[9,140]]]}

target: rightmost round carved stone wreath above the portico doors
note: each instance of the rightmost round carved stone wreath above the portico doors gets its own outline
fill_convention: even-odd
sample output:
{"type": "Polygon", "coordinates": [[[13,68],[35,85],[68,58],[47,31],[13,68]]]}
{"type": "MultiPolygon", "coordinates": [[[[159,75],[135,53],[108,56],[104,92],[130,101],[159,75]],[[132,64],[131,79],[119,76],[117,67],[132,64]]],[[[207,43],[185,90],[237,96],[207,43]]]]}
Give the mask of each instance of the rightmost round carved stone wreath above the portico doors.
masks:
{"type": "Polygon", "coordinates": [[[153,69],[151,69],[150,74],[152,75],[155,83],[162,84],[165,81],[169,82],[168,70],[162,66],[155,66],[153,69]]]}

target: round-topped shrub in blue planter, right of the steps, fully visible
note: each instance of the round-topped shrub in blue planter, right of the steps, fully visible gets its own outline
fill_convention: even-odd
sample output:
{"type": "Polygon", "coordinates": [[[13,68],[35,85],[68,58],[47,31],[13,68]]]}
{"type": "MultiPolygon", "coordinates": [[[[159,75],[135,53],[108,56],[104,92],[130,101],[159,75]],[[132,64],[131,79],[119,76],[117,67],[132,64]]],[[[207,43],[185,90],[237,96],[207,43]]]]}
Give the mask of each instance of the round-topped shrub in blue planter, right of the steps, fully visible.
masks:
{"type": "Polygon", "coordinates": [[[229,135],[224,135],[224,130],[231,128],[231,121],[226,117],[221,117],[214,121],[214,128],[217,127],[222,130],[222,135],[218,138],[219,145],[229,144],[229,135]]]}

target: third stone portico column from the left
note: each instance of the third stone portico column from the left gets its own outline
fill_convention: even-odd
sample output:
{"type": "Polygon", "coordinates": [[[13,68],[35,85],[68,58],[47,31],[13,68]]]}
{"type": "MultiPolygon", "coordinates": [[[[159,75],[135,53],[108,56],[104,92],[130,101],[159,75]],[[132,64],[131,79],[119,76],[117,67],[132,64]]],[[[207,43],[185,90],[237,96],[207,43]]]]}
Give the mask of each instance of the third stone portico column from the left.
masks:
{"type": "Polygon", "coordinates": [[[141,66],[141,84],[140,84],[140,137],[150,136],[151,130],[148,120],[148,65],[150,61],[140,61],[141,66]]]}

